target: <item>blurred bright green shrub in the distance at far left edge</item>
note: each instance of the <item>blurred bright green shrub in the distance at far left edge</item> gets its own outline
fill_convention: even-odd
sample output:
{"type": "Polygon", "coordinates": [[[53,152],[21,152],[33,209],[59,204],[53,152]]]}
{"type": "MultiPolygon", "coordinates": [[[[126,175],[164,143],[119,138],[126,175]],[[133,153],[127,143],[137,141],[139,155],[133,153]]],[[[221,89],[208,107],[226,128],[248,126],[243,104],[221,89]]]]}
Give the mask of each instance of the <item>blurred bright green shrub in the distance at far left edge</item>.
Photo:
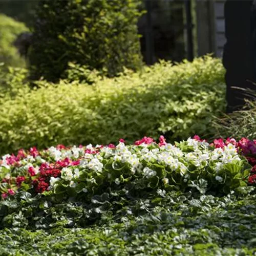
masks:
{"type": "Polygon", "coordinates": [[[16,37],[25,31],[28,31],[25,24],[0,14],[0,62],[5,62],[7,65],[14,67],[25,66],[25,59],[19,56],[13,45],[16,37]]]}

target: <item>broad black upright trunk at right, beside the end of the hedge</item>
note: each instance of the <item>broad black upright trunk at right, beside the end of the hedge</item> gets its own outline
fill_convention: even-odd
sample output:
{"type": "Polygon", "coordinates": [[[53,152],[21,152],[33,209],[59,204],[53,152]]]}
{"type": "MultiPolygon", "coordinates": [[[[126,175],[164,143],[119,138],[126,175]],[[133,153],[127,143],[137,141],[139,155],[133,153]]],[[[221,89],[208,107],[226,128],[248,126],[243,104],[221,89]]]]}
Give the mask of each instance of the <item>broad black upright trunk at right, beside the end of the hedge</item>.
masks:
{"type": "Polygon", "coordinates": [[[227,0],[225,4],[225,35],[223,64],[226,68],[227,112],[238,110],[244,105],[244,90],[256,87],[253,42],[256,17],[253,0],[227,0]],[[233,88],[237,87],[237,88],[233,88]]]}

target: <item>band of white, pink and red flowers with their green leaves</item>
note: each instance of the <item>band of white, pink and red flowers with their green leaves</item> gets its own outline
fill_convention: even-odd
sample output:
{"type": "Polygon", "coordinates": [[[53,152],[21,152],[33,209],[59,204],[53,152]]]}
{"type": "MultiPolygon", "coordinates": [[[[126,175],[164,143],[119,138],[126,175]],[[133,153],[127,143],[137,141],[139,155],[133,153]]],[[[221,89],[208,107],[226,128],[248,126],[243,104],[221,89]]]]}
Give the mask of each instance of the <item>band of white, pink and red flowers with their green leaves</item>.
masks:
{"type": "Polygon", "coordinates": [[[125,145],[121,139],[117,146],[58,145],[40,152],[33,147],[5,155],[0,162],[2,200],[27,191],[91,201],[94,195],[120,188],[227,194],[256,181],[256,141],[218,139],[209,144],[198,136],[175,145],[163,136],[159,141],[144,137],[125,145]]]}

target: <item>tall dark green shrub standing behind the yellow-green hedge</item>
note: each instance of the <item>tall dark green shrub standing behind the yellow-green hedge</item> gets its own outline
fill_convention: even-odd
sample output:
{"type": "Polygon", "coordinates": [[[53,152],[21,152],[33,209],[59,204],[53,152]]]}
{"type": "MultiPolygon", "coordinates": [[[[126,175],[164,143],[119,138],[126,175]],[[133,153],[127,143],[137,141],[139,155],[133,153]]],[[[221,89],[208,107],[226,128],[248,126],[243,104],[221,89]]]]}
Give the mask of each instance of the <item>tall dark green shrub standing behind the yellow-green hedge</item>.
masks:
{"type": "Polygon", "coordinates": [[[30,52],[32,77],[55,81],[68,62],[109,76],[142,65],[133,0],[41,0],[30,52]]]}

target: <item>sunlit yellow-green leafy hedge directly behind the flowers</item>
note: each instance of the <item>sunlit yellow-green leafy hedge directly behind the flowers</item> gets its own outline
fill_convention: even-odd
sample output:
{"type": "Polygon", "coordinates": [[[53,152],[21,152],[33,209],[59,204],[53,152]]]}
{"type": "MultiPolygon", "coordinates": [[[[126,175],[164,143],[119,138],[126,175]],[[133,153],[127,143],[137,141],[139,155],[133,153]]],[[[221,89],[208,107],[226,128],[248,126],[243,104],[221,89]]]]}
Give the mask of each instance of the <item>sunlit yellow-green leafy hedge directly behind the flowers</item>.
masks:
{"type": "Polygon", "coordinates": [[[0,153],[36,145],[108,144],[144,135],[184,139],[215,132],[225,110],[224,69],[209,56],[173,66],[158,63],[94,84],[65,80],[0,105],[0,153]]]}

